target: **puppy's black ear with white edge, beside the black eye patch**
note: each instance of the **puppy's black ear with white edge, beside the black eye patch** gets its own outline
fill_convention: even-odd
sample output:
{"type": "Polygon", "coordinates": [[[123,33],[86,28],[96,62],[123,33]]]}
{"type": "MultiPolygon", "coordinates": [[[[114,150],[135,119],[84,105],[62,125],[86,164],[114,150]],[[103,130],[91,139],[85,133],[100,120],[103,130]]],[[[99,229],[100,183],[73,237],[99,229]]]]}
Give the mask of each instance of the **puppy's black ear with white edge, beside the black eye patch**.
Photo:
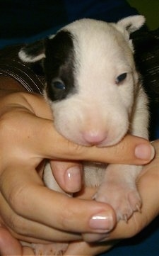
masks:
{"type": "Polygon", "coordinates": [[[37,62],[45,58],[45,40],[25,45],[18,52],[18,57],[23,62],[37,62]]]}

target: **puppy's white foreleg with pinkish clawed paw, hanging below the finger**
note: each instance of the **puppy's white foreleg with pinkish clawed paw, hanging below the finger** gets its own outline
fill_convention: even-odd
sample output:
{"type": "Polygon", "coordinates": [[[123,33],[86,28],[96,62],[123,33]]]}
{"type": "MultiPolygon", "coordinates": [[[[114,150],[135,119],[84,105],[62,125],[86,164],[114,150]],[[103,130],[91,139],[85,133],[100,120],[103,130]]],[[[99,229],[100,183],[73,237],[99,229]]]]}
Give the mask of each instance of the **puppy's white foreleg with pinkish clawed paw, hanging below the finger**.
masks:
{"type": "Polygon", "coordinates": [[[136,177],[141,167],[131,165],[108,165],[98,192],[97,201],[110,204],[117,219],[127,221],[134,211],[140,211],[141,198],[136,188],[136,177]]]}

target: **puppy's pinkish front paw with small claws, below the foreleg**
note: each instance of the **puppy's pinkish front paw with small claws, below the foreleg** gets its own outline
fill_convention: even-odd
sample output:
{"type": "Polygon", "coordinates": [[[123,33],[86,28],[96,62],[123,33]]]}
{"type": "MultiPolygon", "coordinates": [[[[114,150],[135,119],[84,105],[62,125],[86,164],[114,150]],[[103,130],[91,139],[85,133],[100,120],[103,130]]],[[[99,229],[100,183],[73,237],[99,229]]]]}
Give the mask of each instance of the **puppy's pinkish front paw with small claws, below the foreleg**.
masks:
{"type": "Polygon", "coordinates": [[[141,198],[136,187],[114,182],[103,183],[94,199],[110,204],[117,214],[117,220],[128,221],[135,211],[141,211],[141,198]]]}

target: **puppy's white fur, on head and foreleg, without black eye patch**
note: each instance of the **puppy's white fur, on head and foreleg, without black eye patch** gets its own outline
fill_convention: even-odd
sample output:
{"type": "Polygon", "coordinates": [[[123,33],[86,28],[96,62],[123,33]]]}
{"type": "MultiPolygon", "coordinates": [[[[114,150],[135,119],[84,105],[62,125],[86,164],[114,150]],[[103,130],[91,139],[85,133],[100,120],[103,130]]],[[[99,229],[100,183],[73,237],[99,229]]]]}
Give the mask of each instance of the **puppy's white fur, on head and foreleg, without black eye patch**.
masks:
{"type": "MultiPolygon", "coordinates": [[[[73,34],[78,94],[63,101],[49,101],[49,104],[53,109],[57,130],[69,140],[81,145],[96,144],[103,147],[118,143],[126,133],[148,138],[148,101],[139,82],[134,65],[134,49],[129,40],[129,31],[136,30],[143,22],[143,16],[128,17],[117,24],[83,19],[64,28],[73,34]],[[127,77],[122,84],[117,85],[115,80],[123,73],[127,77]]],[[[117,210],[118,219],[129,218],[141,206],[139,196],[135,196],[137,199],[133,200],[133,206],[130,203],[127,210],[119,210],[119,206],[116,206],[119,199],[113,196],[114,193],[119,195],[119,192],[114,188],[112,193],[111,189],[111,196],[106,183],[110,173],[117,184],[120,180],[121,187],[126,181],[126,184],[131,184],[131,189],[136,190],[136,175],[141,168],[110,165],[104,182],[103,169],[95,166],[93,172],[93,166],[89,168],[87,164],[86,185],[97,185],[102,180],[105,185],[101,187],[105,189],[102,189],[103,194],[98,192],[96,198],[112,204],[117,210]]]]}

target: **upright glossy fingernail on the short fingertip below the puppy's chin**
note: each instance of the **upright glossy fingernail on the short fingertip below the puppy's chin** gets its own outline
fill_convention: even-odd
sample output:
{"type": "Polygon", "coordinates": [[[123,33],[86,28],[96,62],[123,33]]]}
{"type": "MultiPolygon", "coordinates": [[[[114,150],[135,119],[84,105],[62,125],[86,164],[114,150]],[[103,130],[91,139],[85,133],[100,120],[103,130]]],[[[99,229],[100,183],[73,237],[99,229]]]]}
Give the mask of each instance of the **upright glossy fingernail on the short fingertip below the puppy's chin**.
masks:
{"type": "Polygon", "coordinates": [[[66,170],[65,182],[66,189],[71,193],[75,193],[81,189],[81,168],[74,166],[66,170]]]}

